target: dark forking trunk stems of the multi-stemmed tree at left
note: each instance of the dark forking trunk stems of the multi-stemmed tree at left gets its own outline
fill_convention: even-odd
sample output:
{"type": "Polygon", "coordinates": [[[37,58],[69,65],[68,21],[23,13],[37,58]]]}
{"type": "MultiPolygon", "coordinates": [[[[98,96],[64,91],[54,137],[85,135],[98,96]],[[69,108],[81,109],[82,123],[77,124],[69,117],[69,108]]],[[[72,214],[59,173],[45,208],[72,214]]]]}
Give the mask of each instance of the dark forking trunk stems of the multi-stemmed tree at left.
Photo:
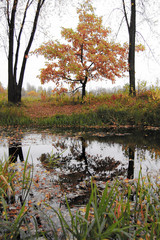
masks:
{"type": "MultiPolygon", "coordinates": [[[[29,1],[27,2],[26,9],[23,16],[23,21],[21,24],[21,28],[18,34],[18,40],[17,40],[17,49],[14,59],[14,32],[15,32],[15,18],[16,18],[16,11],[17,11],[17,5],[18,0],[14,0],[12,12],[11,12],[11,19],[9,17],[9,11],[8,14],[8,27],[9,27],[9,55],[8,55],[8,101],[12,103],[18,103],[21,102],[21,90],[22,90],[22,84],[24,79],[24,73],[25,73],[25,67],[27,63],[28,53],[30,51],[34,35],[37,28],[38,18],[40,15],[40,10],[44,4],[45,0],[38,0],[37,1],[37,8],[35,11],[33,26],[31,30],[31,34],[28,40],[28,45],[24,51],[22,65],[20,67],[20,75],[19,79],[17,77],[17,68],[18,68],[18,57],[19,57],[19,49],[20,49],[20,42],[21,42],[21,34],[23,31],[23,27],[25,24],[26,14],[29,7],[29,1]],[[14,63],[15,60],[15,63],[14,63]],[[18,80],[18,81],[17,81],[18,80]]],[[[33,2],[31,1],[30,4],[33,2]]],[[[10,2],[7,2],[7,9],[9,9],[10,2]]]]}

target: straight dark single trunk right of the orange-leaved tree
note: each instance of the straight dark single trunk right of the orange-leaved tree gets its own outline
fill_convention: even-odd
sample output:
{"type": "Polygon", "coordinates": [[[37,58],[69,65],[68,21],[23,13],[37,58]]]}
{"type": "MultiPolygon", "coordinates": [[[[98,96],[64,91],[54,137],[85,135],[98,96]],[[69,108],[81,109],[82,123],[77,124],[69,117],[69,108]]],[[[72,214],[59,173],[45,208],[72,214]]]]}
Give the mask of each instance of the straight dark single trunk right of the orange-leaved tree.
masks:
{"type": "Polygon", "coordinates": [[[135,35],[136,35],[136,0],[131,0],[131,19],[129,27],[129,94],[136,95],[135,89],[135,35]]]}

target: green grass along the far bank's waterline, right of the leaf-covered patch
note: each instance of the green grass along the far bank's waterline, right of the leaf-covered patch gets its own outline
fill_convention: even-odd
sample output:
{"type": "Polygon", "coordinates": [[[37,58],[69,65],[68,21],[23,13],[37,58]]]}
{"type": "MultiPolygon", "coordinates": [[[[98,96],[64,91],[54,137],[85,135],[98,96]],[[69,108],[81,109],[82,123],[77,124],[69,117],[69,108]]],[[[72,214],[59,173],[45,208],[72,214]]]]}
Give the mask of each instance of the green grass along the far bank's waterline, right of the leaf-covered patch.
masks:
{"type": "Polygon", "coordinates": [[[79,114],[56,114],[48,118],[36,119],[38,126],[56,126],[56,127],[87,127],[110,125],[134,125],[138,127],[156,126],[160,127],[160,108],[153,108],[152,105],[134,108],[116,108],[102,105],[96,111],[91,110],[88,113],[79,114]]]}

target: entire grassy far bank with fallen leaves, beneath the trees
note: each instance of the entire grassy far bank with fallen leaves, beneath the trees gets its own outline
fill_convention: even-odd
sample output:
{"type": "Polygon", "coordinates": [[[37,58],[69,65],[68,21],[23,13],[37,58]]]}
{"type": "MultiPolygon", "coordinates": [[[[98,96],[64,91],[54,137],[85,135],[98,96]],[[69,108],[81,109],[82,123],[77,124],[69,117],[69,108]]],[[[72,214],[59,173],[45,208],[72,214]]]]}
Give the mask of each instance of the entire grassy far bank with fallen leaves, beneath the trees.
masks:
{"type": "Polygon", "coordinates": [[[115,94],[88,95],[84,103],[80,100],[61,97],[48,100],[23,100],[19,106],[1,101],[1,126],[47,126],[47,127],[88,127],[110,125],[136,127],[160,127],[160,91],[157,89],[139,91],[136,97],[130,97],[125,92],[115,94]],[[67,98],[67,99],[65,99],[67,98]],[[33,106],[31,114],[28,110],[33,106]],[[35,106],[35,107],[34,107],[35,106]],[[62,113],[54,113],[59,107],[62,113]],[[46,111],[49,108],[49,116],[46,111]],[[69,109],[69,112],[67,111],[69,109]],[[39,112],[38,112],[39,111],[39,112]],[[53,114],[52,114],[53,112],[53,114]]]}

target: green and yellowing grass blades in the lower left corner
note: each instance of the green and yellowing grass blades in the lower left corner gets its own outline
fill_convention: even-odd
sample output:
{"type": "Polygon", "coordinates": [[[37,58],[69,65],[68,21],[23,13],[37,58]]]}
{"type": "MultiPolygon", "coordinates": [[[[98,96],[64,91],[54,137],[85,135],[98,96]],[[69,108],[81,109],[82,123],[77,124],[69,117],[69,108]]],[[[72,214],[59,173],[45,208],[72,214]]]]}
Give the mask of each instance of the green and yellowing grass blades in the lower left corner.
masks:
{"type": "MultiPolygon", "coordinates": [[[[28,197],[30,187],[32,184],[31,169],[27,171],[28,156],[24,164],[24,170],[22,174],[21,184],[21,207],[18,208],[18,212],[14,213],[14,217],[10,217],[9,213],[12,211],[9,209],[10,201],[13,199],[15,201],[15,192],[14,185],[17,183],[17,174],[12,171],[10,167],[12,156],[6,160],[4,163],[0,162],[0,176],[1,185],[0,185],[0,211],[2,216],[0,217],[0,239],[28,239],[28,236],[25,234],[24,225],[26,229],[30,232],[30,228],[27,220],[27,209],[26,199],[28,197]],[[9,191],[10,190],[10,191],[9,191]],[[14,198],[13,198],[14,197],[14,198]]],[[[33,170],[33,169],[32,169],[33,170]]],[[[31,232],[30,232],[31,235],[31,232]]]]}

